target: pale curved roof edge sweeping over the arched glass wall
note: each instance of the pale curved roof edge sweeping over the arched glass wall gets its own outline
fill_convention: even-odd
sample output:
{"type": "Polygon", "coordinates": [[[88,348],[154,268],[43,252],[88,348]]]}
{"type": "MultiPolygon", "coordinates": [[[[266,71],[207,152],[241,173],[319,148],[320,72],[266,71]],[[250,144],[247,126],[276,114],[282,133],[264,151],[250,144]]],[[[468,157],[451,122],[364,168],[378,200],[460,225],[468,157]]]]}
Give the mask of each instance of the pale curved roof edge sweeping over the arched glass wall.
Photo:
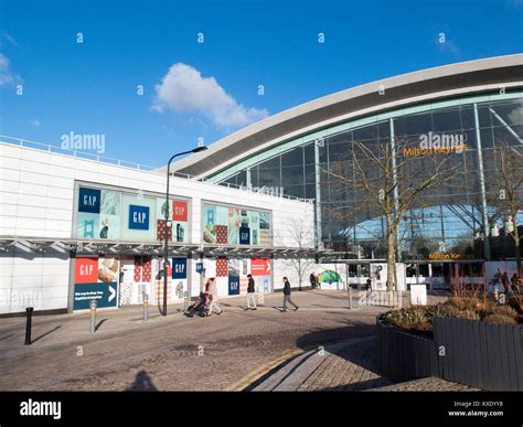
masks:
{"type": "Polygon", "coordinates": [[[180,173],[207,177],[312,130],[409,104],[499,90],[500,85],[523,87],[523,54],[438,66],[337,92],[239,129],[171,168],[180,173]]]}

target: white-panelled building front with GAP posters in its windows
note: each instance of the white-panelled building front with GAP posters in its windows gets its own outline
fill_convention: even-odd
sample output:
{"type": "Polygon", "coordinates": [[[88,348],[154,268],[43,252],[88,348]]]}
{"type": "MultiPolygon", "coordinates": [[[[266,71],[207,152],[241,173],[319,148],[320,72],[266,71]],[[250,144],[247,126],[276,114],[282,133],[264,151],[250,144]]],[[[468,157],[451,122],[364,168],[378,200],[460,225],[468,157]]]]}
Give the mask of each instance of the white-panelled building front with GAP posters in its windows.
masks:
{"type": "MultiPolygon", "coordinates": [[[[145,295],[161,307],[166,174],[2,140],[0,314],[118,308],[145,295]]],[[[279,276],[295,279],[292,257],[314,255],[309,201],[180,178],[170,189],[169,302],[198,296],[210,277],[221,296],[244,295],[249,273],[271,292],[279,276]]]]}

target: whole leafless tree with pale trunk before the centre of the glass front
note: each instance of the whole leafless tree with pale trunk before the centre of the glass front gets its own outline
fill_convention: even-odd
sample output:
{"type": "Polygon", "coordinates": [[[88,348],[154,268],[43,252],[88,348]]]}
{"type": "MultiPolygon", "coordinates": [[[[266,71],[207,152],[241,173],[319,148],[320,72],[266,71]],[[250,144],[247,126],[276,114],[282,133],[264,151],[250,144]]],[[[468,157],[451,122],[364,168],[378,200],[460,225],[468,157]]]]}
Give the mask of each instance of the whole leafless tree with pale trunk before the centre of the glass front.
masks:
{"type": "MultiPolygon", "coordinates": [[[[351,160],[331,164],[324,172],[339,183],[352,186],[353,204],[339,214],[384,218],[387,248],[387,290],[396,288],[396,248],[404,214],[413,207],[438,203],[427,201],[429,190],[449,181],[459,182],[455,150],[419,150],[405,140],[350,143],[351,160]]],[[[434,196],[434,194],[433,194],[434,196]]]]}

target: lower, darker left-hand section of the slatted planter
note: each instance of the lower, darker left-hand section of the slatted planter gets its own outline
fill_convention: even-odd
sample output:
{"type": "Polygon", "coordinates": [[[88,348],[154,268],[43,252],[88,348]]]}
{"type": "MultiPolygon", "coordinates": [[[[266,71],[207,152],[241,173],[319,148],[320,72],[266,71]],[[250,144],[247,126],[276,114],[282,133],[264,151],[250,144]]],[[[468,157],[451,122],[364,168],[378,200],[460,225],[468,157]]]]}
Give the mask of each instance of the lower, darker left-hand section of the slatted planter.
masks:
{"type": "Polygon", "coordinates": [[[391,381],[404,382],[437,375],[434,341],[377,320],[380,369],[391,381]]]}

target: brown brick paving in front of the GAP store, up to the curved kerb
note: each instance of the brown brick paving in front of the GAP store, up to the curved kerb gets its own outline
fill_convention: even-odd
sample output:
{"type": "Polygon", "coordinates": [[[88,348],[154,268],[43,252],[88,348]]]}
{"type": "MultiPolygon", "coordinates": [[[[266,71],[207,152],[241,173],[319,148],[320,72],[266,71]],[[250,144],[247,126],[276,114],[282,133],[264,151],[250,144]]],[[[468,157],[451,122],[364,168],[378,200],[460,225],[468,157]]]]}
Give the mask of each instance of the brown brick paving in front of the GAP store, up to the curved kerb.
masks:
{"type": "Polygon", "coordinates": [[[372,335],[386,310],[349,311],[343,291],[292,298],[297,312],[279,311],[279,293],[257,311],[243,310],[244,298],[224,299],[225,312],[205,319],[174,312],[143,323],[139,308],[104,312],[95,335],[85,314],[36,317],[33,337],[44,335],[31,346],[22,345],[23,319],[2,319],[0,389],[225,389],[290,351],[372,335]]]}

